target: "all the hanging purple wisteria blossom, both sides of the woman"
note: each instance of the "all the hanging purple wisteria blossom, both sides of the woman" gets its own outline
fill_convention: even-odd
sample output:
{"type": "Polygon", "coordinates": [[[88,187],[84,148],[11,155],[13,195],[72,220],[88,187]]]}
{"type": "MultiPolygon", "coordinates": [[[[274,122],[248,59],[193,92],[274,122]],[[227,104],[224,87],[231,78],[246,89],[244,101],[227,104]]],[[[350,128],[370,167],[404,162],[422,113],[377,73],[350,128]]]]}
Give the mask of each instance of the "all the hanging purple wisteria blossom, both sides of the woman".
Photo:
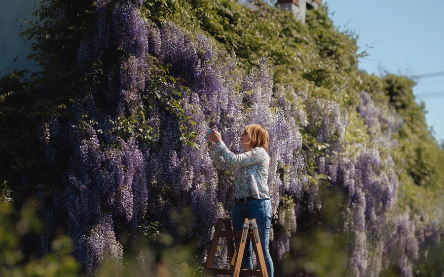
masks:
{"type": "MultiPolygon", "coordinates": [[[[343,197],[341,225],[327,229],[347,234],[346,269],[353,276],[378,276],[395,266],[411,276],[415,261],[426,258],[444,228],[442,215],[429,222],[393,212],[399,184],[392,134],[402,125],[400,116],[368,92],[359,93],[359,106],[345,110],[332,99],[275,84],[266,59],[247,72],[207,33],[151,22],[144,4],[93,3],[94,19],[76,55],[80,81],[70,116],[54,115],[41,125],[48,162],[63,165],[57,180],[62,189],[51,197],[38,191],[50,230],[41,236],[43,253],[50,251],[51,232],[64,225],[74,256],[95,275],[107,260],[120,267],[124,246],[142,250],[141,227],[160,222],[172,246],[197,238],[203,263],[214,223],[229,216],[234,193],[231,174],[213,167],[206,130],[218,128],[228,148],[240,153],[244,126],[259,123],[270,134],[277,258],[291,249],[296,216],[323,207],[319,182],[309,183],[305,173],[308,156],[311,178],[343,197]],[[365,135],[351,144],[347,136],[356,128],[365,135]],[[302,150],[299,129],[314,139],[316,154],[302,150]],[[181,224],[185,230],[178,230],[181,224]],[[129,243],[120,241],[122,232],[131,233],[129,243]]],[[[228,266],[226,254],[222,243],[217,266],[228,266]]]]}

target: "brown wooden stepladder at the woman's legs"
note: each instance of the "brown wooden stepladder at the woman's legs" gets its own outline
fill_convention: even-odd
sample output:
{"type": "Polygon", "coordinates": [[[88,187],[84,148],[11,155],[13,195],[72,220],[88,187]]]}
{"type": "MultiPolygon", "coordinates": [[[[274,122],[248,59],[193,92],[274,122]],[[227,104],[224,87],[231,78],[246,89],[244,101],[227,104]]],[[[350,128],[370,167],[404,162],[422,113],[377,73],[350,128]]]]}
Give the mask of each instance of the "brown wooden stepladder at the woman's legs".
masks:
{"type": "Polygon", "coordinates": [[[260,245],[258,224],[256,219],[244,218],[242,231],[231,230],[230,218],[219,218],[214,232],[213,242],[211,243],[210,252],[208,253],[207,263],[203,271],[203,277],[207,276],[261,276],[268,277],[267,269],[265,267],[265,259],[263,258],[262,246],[260,245]],[[223,230],[225,227],[225,230],[223,230]],[[228,248],[228,263],[230,269],[212,268],[214,255],[219,244],[220,238],[226,238],[226,245],[228,248]],[[234,254],[233,239],[239,239],[239,246],[234,254]],[[247,239],[252,239],[253,249],[256,252],[256,257],[259,263],[259,270],[241,269],[242,257],[244,256],[245,244],[247,239]]]}

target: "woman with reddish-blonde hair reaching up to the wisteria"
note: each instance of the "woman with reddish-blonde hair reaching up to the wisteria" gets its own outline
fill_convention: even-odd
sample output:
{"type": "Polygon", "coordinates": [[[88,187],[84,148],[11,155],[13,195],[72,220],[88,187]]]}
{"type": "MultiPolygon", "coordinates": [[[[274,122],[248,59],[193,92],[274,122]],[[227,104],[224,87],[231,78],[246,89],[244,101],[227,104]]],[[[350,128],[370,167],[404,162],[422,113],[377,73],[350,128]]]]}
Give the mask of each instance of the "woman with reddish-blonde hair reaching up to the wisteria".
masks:
{"type": "MultiPolygon", "coordinates": [[[[210,156],[217,168],[233,171],[233,231],[242,230],[245,217],[256,218],[267,273],[273,277],[273,262],[268,250],[271,225],[271,201],[267,184],[270,165],[268,131],[262,125],[250,124],[245,127],[240,138],[244,153],[236,155],[227,149],[221,134],[213,129],[208,136],[208,141],[214,143],[210,156]]],[[[247,240],[245,249],[242,268],[253,269],[251,240],[247,240]]]]}

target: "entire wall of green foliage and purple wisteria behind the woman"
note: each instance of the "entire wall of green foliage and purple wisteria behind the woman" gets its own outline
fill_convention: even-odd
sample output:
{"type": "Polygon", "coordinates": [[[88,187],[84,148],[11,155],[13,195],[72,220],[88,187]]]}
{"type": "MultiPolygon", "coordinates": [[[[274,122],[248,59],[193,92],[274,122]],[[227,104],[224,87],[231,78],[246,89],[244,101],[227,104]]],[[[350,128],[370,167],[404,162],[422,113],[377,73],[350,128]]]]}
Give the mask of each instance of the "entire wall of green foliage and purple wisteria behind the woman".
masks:
{"type": "Polygon", "coordinates": [[[243,126],[261,123],[279,276],[439,276],[444,152],[414,83],[359,70],[367,53],[325,6],[306,24],[259,6],[43,3],[24,33],[43,71],[0,80],[2,195],[16,209],[37,197],[47,228],[31,252],[63,233],[88,275],[147,261],[145,247],[161,260],[192,245],[198,267],[233,197],[206,129],[240,152],[243,126]]]}

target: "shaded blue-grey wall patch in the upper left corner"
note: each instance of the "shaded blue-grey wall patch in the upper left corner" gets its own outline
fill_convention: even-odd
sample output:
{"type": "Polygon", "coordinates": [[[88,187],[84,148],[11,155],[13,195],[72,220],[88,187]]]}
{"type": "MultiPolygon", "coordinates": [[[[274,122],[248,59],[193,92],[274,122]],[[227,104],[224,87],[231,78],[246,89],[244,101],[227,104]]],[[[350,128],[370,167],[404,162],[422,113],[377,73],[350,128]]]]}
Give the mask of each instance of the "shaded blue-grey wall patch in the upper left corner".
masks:
{"type": "Polygon", "coordinates": [[[31,44],[20,33],[35,22],[32,16],[40,0],[0,0],[0,77],[10,70],[39,70],[34,61],[26,59],[32,53],[31,44]],[[14,61],[15,60],[15,61],[14,61]]]}

